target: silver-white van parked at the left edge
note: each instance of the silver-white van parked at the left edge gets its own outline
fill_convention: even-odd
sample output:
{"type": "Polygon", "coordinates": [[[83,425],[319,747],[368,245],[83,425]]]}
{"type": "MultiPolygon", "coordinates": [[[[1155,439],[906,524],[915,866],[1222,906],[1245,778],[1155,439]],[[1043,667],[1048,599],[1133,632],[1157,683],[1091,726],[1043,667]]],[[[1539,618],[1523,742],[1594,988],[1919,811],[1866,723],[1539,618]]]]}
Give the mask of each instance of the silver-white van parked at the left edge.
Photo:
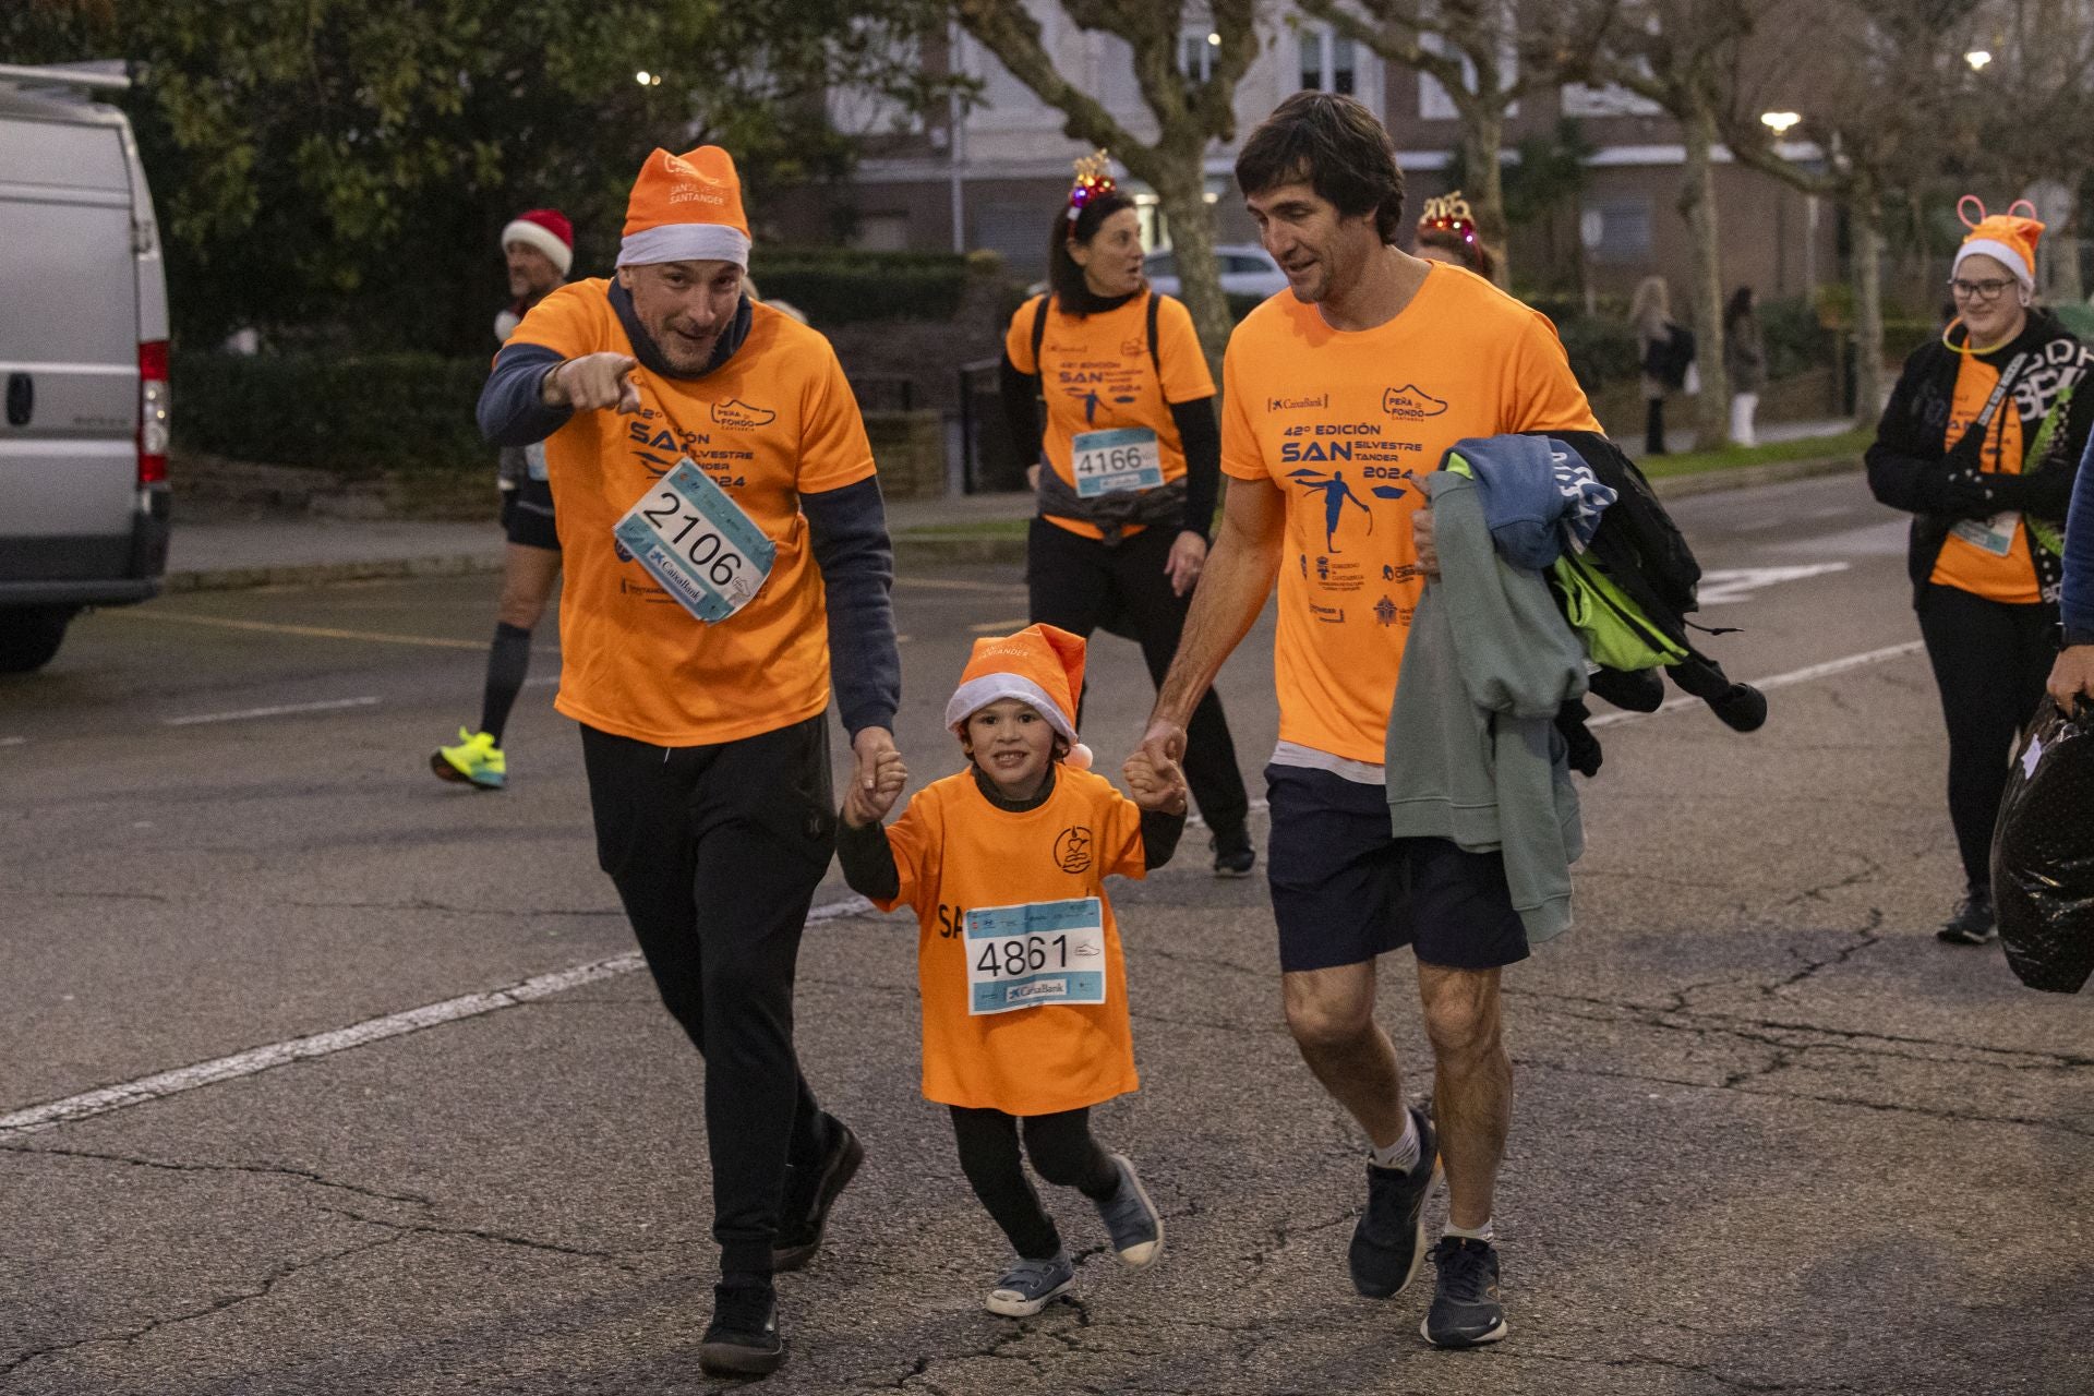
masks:
{"type": "Polygon", "coordinates": [[[168,567],[168,285],[107,65],[0,65],[0,672],[168,567]]]}

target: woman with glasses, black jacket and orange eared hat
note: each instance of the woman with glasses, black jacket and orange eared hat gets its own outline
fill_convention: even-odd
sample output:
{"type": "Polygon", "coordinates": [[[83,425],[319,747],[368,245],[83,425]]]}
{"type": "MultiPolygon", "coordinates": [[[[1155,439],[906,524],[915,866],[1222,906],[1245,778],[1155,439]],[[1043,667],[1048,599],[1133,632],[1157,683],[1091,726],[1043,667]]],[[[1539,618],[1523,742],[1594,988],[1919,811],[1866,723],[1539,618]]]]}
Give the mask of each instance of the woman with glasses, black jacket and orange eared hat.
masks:
{"type": "Polygon", "coordinates": [[[2056,655],[2060,532],[2094,425],[2090,354],[2035,306],[2044,224],[2017,203],[1977,220],[1956,251],[1956,318],[1906,360],[1868,448],[1876,498],[1912,515],[1908,569],[1950,730],[1950,823],[1964,898],[1937,931],[1996,933],[1991,825],[2014,728],[2044,697],[2056,655]]]}

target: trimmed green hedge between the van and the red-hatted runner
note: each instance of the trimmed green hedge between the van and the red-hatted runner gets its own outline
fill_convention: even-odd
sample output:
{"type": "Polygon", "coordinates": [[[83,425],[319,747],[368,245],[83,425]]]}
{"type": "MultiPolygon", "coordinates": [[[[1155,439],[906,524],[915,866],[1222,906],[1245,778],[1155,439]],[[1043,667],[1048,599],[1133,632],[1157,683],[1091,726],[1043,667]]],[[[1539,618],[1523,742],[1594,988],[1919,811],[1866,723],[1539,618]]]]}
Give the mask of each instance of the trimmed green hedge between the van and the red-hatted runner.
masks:
{"type": "Polygon", "coordinates": [[[350,475],[494,458],[473,421],[484,358],[180,354],[170,381],[180,450],[350,475]]]}

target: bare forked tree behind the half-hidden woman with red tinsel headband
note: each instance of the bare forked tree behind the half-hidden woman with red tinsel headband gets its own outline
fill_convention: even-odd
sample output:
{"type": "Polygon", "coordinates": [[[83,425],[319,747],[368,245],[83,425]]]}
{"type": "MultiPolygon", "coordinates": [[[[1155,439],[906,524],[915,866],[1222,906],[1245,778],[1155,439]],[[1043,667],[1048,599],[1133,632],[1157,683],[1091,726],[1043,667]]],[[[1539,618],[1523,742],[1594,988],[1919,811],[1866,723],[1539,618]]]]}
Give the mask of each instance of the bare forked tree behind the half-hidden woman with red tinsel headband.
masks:
{"type": "Polygon", "coordinates": [[[1462,121],[1462,170],[1476,230],[1512,285],[1506,255],[1506,119],[1522,96],[1583,67],[1619,0],[1294,0],[1332,31],[1432,77],[1462,121]]]}

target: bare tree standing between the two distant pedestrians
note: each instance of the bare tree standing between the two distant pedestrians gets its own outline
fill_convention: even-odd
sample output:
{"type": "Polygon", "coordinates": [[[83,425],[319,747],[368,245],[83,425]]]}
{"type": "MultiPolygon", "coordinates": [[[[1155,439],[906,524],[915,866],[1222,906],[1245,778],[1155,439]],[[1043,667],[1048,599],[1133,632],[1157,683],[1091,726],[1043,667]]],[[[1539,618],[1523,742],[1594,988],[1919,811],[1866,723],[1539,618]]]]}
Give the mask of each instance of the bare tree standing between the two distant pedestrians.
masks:
{"type": "Polygon", "coordinates": [[[1665,109],[1679,123],[1686,172],[1679,216],[1688,220],[1702,448],[1730,442],[1730,375],[1723,373],[1723,266],[1715,218],[1715,149],[1728,84],[1753,21],[1769,0],[1623,0],[1591,73],[1665,109]]]}

